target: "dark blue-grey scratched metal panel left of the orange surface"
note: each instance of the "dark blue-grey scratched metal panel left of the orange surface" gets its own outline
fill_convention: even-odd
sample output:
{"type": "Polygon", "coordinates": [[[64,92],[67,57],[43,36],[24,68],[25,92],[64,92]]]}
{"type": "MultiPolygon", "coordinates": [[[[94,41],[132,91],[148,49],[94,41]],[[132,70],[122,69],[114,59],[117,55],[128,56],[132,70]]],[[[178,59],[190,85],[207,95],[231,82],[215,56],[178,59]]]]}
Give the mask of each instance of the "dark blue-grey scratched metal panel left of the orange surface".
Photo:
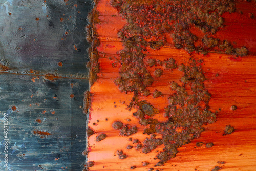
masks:
{"type": "Polygon", "coordinates": [[[9,67],[0,72],[0,170],[82,170],[83,93],[89,88],[84,27],[91,9],[89,0],[0,0],[0,63],[9,67]],[[47,73],[59,78],[46,80],[47,73]]]}

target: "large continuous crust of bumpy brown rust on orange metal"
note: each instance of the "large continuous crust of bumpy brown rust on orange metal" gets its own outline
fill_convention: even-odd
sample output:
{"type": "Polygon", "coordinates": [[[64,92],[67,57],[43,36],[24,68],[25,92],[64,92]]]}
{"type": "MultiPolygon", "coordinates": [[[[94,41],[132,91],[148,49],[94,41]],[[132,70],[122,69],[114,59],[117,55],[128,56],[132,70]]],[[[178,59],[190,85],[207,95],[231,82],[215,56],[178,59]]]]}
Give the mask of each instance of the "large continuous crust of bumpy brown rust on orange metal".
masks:
{"type": "MultiPolygon", "coordinates": [[[[166,34],[170,34],[175,48],[185,49],[190,54],[196,52],[206,55],[209,51],[215,51],[236,56],[248,55],[246,47],[234,48],[227,40],[220,42],[214,38],[214,34],[224,27],[221,15],[236,11],[236,4],[233,0],[112,0],[111,5],[127,20],[127,24],[118,32],[124,49],[118,52],[121,67],[115,84],[121,92],[134,92],[129,107],[138,109],[134,116],[141,125],[149,125],[149,128],[144,129],[144,134],[151,135],[151,139],[145,139],[143,144],[135,148],[150,153],[164,144],[163,151],[156,156],[160,160],[156,166],[161,166],[176,156],[177,148],[199,138],[204,131],[203,125],[216,121],[216,113],[209,110],[211,95],[204,86],[202,60],[191,58],[186,65],[177,63],[174,58],[160,62],[153,58],[144,61],[146,51],[148,48],[159,50],[166,45],[166,34]],[[203,37],[193,34],[191,28],[201,30],[203,37]],[[165,122],[153,119],[153,106],[146,101],[139,102],[137,98],[150,95],[147,87],[152,85],[154,79],[146,67],[153,66],[183,72],[181,85],[170,80],[170,89],[175,93],[168,97],[169,105],[165,108],[168,121],[165,122]],[[155,139],[154,133],[161,134],[162,138],[155,139]]],[[[156,69],[154,76],[159,78],[163,72],[156,69]]],[[[161,92],[159,95],[156,93],[154,97],[161,95],[161,92]]],[[[209,148],[212,145],[207,143],[206,146],[209,148]]]]}

